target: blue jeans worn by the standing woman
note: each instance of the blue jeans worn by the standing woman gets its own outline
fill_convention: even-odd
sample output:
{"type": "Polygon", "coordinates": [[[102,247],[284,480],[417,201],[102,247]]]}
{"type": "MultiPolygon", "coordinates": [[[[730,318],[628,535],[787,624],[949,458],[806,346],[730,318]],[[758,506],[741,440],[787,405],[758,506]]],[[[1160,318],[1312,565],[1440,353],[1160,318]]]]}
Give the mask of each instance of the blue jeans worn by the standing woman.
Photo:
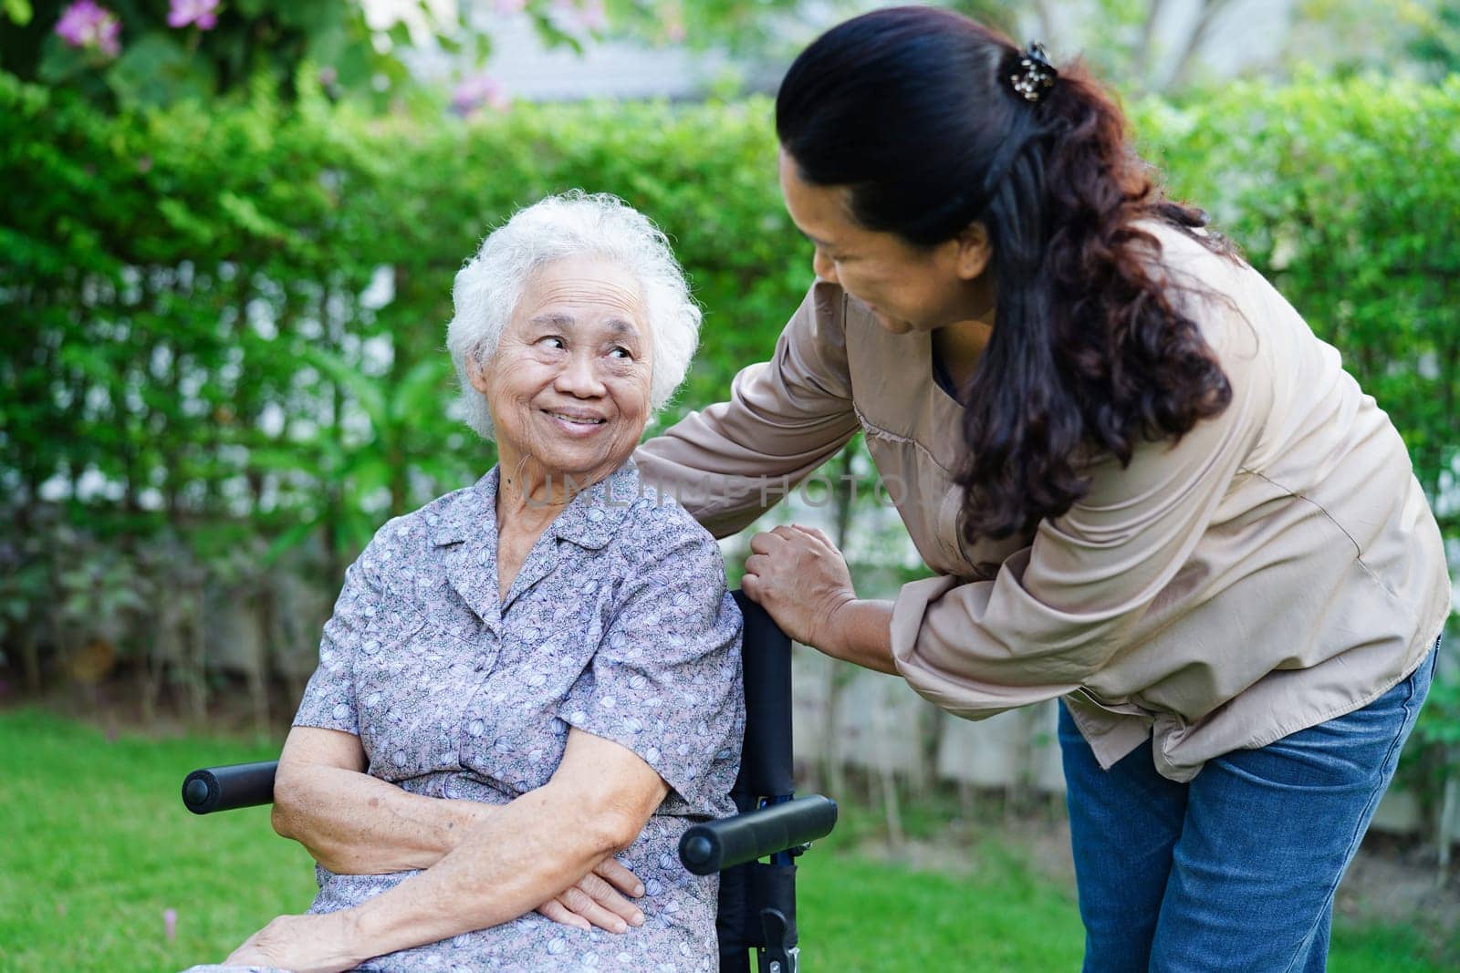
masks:
{"type": "Polygon", "coordinates": [[[1086,973],[1321,972],[1333,893],[1394,776],[1435,656],[1368,706],[1190,783],[1150,743],[1101,770],[1060,705],[1086,973]]]}

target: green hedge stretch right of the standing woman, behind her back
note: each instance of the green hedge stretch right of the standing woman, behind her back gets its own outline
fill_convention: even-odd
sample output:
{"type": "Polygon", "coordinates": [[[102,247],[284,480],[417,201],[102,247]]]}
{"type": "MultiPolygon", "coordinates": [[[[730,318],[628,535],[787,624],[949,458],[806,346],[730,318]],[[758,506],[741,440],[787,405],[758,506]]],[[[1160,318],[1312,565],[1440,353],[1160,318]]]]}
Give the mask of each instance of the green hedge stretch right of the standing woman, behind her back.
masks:
{"type": "Polygon", "coordinates": [[[1388,411],[1460,537],[1460,74],[1241,85],[1139,120],[1172,190],[1212,212],[1388,411]]]}

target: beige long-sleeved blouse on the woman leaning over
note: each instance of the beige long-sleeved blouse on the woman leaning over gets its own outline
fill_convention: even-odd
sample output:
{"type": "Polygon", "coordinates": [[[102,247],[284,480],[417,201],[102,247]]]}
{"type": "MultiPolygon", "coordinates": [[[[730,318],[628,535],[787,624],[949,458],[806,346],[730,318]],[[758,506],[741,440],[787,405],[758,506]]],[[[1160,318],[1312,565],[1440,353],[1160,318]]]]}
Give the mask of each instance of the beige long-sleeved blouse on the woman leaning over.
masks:
{"type": "Polygon", "coordinates": [[[891,334],[818,282],[771,362],[730,401],[639,448],[644,476],[733,534],[858,430],[923,560],[892,652],[907,681],[969,719],[1061,696],[1101,766],[1153,737],[1190,780],[1222,753],[1358,709],[1409,675],[1450,611],[1440,530],[1388,417],[1251,267],[1167,228],[1172,280],[1232,403],[1091,490],[1032,535],[967,544],[953,476],[961,406],[929,334],[891,334]]]}

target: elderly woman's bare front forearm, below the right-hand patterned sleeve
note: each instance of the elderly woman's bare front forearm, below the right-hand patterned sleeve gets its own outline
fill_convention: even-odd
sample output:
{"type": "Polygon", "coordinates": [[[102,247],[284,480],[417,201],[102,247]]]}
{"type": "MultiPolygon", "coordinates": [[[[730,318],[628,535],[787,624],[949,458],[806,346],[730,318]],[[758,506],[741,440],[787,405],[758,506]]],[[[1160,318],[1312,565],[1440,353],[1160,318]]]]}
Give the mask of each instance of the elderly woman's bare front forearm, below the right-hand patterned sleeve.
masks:
{"type": "Polygon", "coordinates": [[[439,862],[347,910],[358,960],[531,912],[628,848],[669,794],[634,751],[571,729],[552,779],[474,824],[439,862]]]}

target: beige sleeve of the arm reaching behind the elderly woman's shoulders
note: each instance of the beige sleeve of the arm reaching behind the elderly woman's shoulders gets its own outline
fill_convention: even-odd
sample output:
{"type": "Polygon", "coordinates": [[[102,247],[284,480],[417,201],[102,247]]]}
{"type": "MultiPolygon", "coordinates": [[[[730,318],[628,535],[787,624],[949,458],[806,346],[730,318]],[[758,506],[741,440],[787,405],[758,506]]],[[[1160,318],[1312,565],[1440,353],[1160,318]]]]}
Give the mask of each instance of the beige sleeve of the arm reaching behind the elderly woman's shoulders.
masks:
{"type": "Polygon", "coordinates": [[[634,454],[641,474],[715,537],[750,524],[858,429],[847,371],[845,295],[818,283],[769,362],[736,375],[730,400],[689,413],[634,454]]]}

